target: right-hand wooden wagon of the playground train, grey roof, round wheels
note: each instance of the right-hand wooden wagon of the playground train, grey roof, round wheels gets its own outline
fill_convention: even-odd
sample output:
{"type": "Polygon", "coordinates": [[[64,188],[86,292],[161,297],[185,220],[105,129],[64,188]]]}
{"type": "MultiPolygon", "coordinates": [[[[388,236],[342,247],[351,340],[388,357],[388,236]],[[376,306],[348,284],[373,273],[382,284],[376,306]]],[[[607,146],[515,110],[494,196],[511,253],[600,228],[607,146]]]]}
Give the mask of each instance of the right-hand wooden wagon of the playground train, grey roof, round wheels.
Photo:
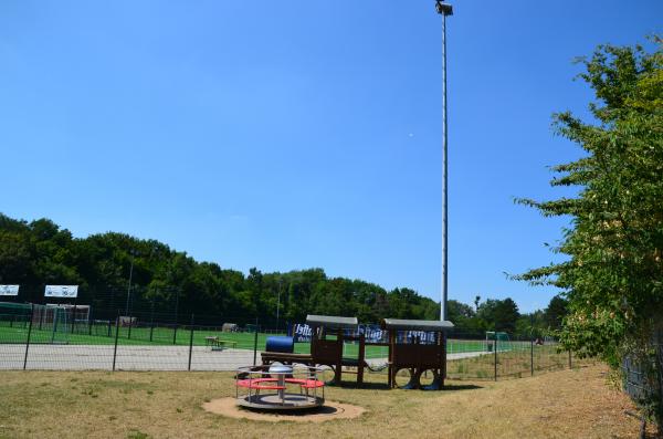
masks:
{"type": "Polygon", "coordinates": [[[382,328],[389,331],[389,387],[398,387],[397,374],[408,370],[410,380],[401,388],[441,390],[446,377],[446,332],[453,323],[385,318],[382,328]],[[432,383],[423,385],[429,372],[432,383]]]}

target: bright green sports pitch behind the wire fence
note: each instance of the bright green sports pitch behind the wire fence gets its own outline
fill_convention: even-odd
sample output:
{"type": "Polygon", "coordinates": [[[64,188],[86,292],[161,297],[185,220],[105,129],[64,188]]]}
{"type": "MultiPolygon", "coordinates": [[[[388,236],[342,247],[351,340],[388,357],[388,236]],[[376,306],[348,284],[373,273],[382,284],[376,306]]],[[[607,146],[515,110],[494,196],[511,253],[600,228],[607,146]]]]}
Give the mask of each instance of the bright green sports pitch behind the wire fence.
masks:
{"type": "MultiPolygon", "coordinates": [[[[67,328],[70,333],[53,332],[51,328],[42,328],[34,325],[30,334],[30,343],[67,343],[71,345],[112,345],[115,343],[115,326],[108,327],[107,325],[99,324],[93,325],[90,328],[87,325],[80,325],[74,328],[74,333],[71,333],[71,327],[67,328]]],[[[236,332],[236,333],[223,333],[217,330],[204,330],[197,328],[193,331],[193,345],[204,346],[207,344],[206,337],[217,336],[223,341],[230,341],[236,343],[238,348],[253,349],[254,345],[254,333],[236,332]]],[[[266,338],[275,334],[257,334],[257,348],[263,351],[265,348],[266,338]]],[[[284,334],[282,334],[284,335],[284,334]]],[[[28,339],[28,327],[23,323],[10,323],[8,321],[0,321],[0,343],[25,343],[28,339]]],[[[182,345],[188,346],[191,341],[191,331],[179,328],[177,332],[173,327],[127,327],[120,326],[119,333],[117,334],[117,343],[120,345],[182,345]]],[[[357,357],[358,345],[346,344],[345,356],[357,357]]],[[[465,352],[482,352],[485,349],[483,341],[460,341],[449,339],[448,349],[450,354],[453,353],[465,353],[465,352]]],[[[308,343],[295,344],[295,352],[299,354],[309,353],[308,343]]],[[[366,357],[367,358],[385,358],[387,357],[387,347],[385,346],[367,346],[366,357]]]]}

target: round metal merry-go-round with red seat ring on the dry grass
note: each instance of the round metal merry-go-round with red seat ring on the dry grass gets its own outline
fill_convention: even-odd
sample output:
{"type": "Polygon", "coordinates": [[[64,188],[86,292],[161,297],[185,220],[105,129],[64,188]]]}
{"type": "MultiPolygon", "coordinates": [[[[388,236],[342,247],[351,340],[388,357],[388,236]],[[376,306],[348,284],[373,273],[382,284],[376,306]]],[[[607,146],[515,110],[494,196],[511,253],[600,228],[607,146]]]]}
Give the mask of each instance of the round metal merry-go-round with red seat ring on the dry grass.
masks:
{"type": "Polygon", "coordinates": [[[235,376],[236,404],[259,410],[303,410],[325,404],[322,369],[312,366],[240,367],[235,376]],[[295,391],[296,390],[296,391],[295,391]]]}

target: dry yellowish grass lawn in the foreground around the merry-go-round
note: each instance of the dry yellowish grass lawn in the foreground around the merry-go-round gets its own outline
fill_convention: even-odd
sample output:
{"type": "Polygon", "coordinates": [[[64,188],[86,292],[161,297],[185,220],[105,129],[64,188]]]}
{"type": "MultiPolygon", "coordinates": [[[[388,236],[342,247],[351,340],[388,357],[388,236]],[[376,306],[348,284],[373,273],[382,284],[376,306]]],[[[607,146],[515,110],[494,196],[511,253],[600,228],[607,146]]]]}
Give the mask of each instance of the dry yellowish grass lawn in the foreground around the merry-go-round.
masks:
{"type": "MultiPolygon", "coordinates": [[[[230,419],[201,409],[234,396],[230,373],[3,372],[0,438],[635,438],[640,422],[601,365],[444,391],[327,388],[367,409],[324,424],[230,419]]],[[[379,383],[379,384],[378,384],[379,383]]]]}

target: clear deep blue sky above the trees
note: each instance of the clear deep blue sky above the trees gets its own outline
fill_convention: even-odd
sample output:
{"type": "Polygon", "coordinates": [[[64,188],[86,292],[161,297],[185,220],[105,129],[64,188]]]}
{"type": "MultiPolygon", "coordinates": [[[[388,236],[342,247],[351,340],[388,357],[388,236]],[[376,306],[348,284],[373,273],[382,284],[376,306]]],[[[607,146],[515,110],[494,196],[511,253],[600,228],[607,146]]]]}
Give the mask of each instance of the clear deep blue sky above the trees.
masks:
{"type": "MultiPolygon", "coordinates": [[[[585,114],[573,56],[661,32],[663,2],[457,0],[449,27],[450,297],[508,281],[564,224],[585,114]]],[[[433,0],[0,2],[0,211],[154,238],[248,271],[324,268],[439,300],[441,19],[433,0]]]]}

